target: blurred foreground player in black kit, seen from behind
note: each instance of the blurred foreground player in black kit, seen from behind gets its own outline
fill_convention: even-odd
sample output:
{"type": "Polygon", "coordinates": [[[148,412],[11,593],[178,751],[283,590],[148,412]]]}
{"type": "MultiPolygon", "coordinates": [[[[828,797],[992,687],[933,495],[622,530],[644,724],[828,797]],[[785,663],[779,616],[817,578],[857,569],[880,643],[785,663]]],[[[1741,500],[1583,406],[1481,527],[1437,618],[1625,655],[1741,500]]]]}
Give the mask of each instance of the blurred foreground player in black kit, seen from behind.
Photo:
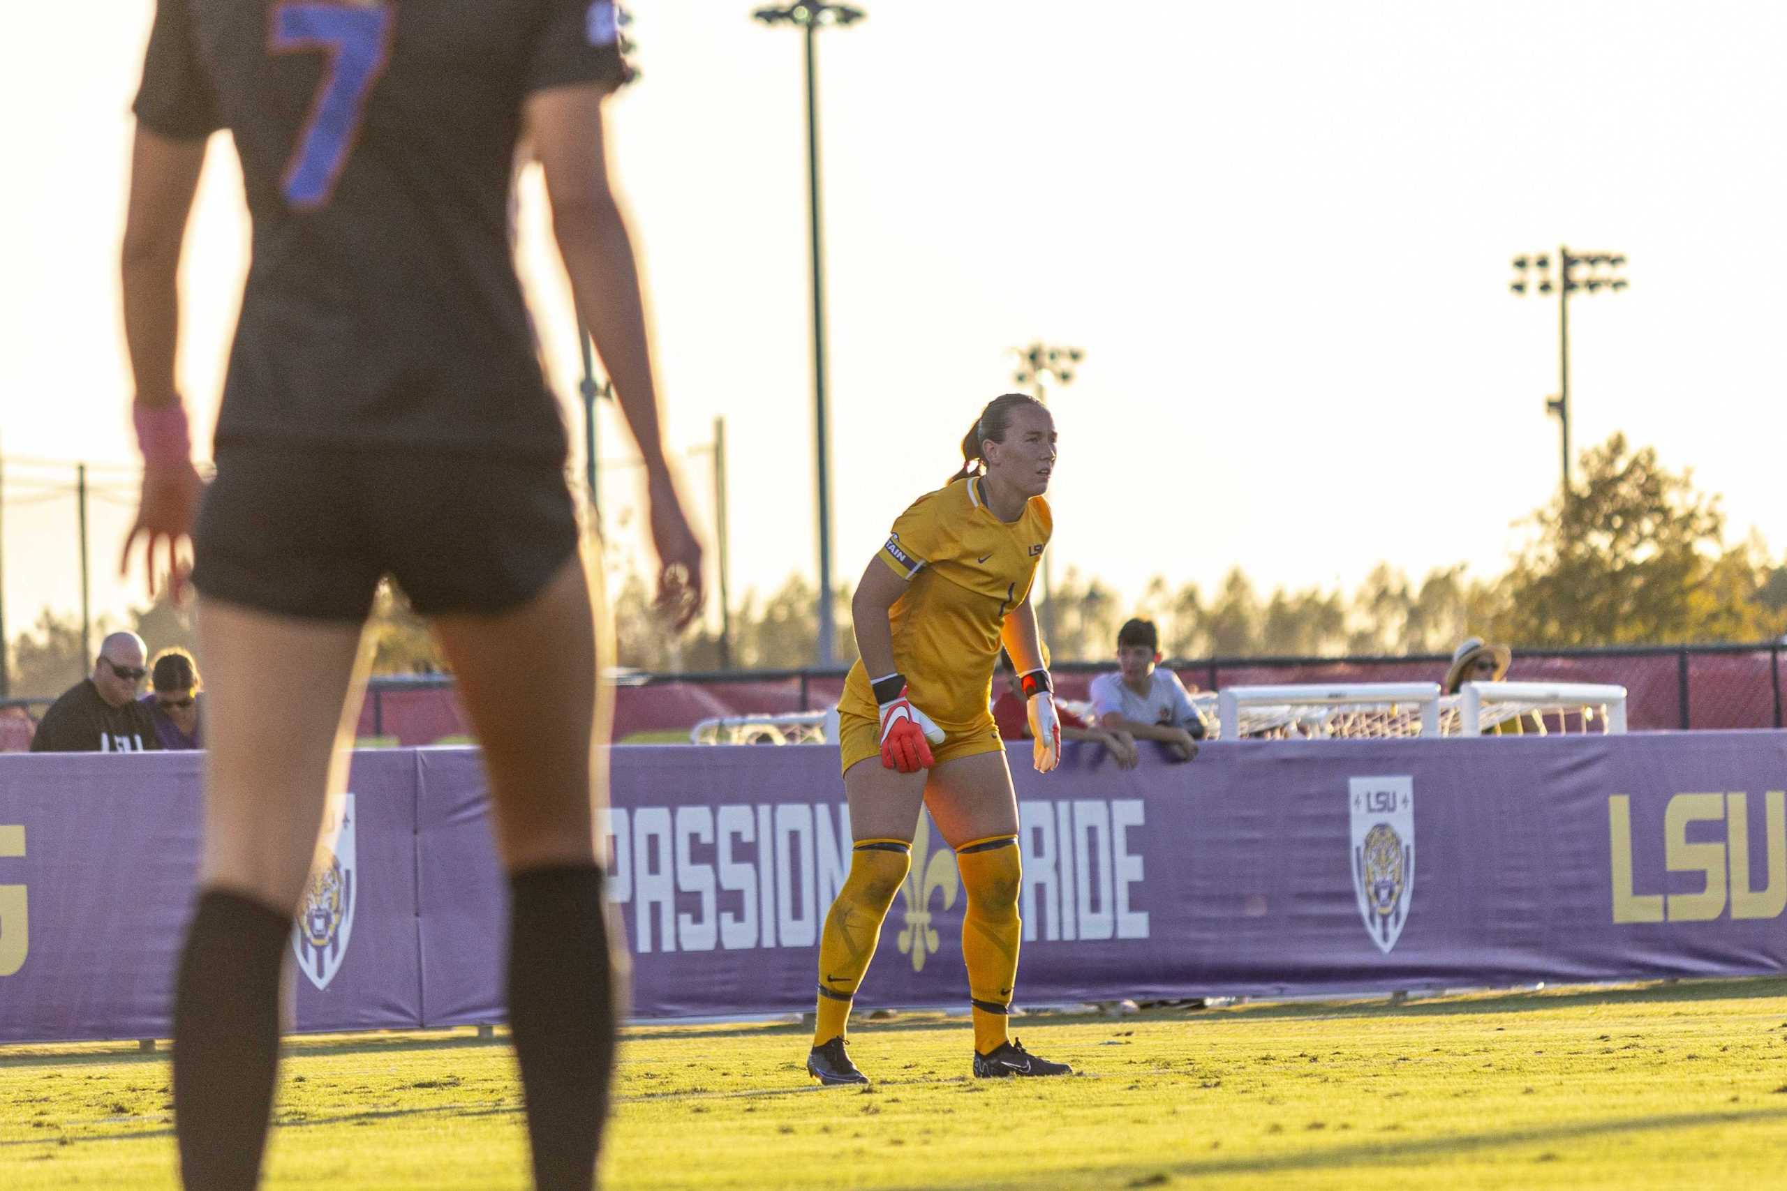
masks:
{"type": "Polygon", "coordinates": [[[509,195],[525,141],[647,462],[659,595],[686,623],[701,548],[659,443],[604,168],[600,104],[625,75],[608,0],[155,9],[123,245],[145,457],[125,557],[147,539],[150,584],[157,568],[180,582],[175,543],[191,534],[209,677],[200,898],[173,1014],[188,1187],[259,1177],[281,959],[347,777],[361,625],[386,573],[431,618],[484,746],[536,1184],[593,1182],[615,1029],[591,757],[604,620],[511,261],[509,195]],[[254,261],[200,500],[173,382],[175,273],[216,129],[241,157],[254,261]]]}

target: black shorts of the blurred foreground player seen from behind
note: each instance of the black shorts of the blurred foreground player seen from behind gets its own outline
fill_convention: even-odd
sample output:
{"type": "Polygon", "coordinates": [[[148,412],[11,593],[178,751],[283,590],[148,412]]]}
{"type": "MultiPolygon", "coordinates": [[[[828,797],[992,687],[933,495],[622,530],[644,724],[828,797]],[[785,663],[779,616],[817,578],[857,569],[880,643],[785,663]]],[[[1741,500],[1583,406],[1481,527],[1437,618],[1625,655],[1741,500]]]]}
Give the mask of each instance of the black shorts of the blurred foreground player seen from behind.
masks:
{"type": "Polygon", "coordinates": [[[266,612],[363,621],[391,575],[424,616],[500,612],[577,552],[543,461],[227,443],[193,530],[193,586],[266,612]]]}

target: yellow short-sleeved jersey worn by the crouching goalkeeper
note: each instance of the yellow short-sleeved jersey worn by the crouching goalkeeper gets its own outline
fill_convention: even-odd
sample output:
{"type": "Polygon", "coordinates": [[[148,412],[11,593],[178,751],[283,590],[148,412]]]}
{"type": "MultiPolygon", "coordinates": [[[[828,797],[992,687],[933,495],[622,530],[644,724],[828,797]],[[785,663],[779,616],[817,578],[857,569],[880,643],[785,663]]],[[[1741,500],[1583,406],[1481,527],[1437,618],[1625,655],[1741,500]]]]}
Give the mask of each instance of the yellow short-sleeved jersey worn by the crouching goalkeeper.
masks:
{"type": "MultiPolygon", "coordinates": [[[[1053,529],[1042,496],[1031,496],[1017,521],[1001,521],[981,500],[979,477],[920,496],[894,521],[877,555],[908,582],[888,612],[894,662],[911,704],[944,732],[990,723],[999,630],[1029,596],[1053,529]]],[[[851,666],[840,712],[877,718],[868,679],[861,661],[851,666]]]]}

